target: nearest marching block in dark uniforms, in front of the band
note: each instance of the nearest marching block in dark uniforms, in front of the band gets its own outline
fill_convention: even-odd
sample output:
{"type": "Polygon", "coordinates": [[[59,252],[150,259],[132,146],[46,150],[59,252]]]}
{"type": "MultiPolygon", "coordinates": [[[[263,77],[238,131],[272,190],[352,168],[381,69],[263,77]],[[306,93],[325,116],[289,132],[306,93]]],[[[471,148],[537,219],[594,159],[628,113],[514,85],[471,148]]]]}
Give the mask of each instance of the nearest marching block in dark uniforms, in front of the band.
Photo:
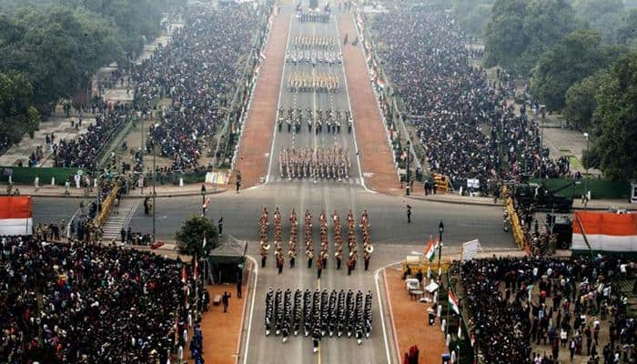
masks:
{"type": "Polygon", "coordinates": [[[305,337],[312,336],[314,352],[319,350],[320,339],[326,336],[353,336],[360,345],[371,334],[371,299],[370,291],[363,298],[362,291],[354,293],[351,289],[312,292],[297,288],[292,294],[289,288],[285,291],[269,288],[264,320],[266,336],[274,329],[286,342],[290,334],[298,336],[302,329],[305,337]]]}

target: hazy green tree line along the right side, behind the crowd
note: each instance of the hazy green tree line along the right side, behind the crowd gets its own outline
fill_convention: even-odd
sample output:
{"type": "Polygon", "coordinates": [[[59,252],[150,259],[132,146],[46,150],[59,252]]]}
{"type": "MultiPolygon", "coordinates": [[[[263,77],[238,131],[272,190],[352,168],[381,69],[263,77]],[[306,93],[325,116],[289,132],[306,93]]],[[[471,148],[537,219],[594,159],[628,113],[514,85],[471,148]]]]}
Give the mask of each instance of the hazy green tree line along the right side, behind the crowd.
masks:
{"type": "MultiPolygon", "coordinates": [[[[463,5],[464,0],[451,0],[463,5]]],[[[480,0],[460,23],[485,45],[484,66],[530,80],[531,96],[591,137],[584,166],[637,178],[637,8],[632,0],[480,0]],[[491,5],[492,4],[492,5],[491,5]],[[470,18],[470,17],[469,17],[470,18]],[[488,20],[488,21],[486,21],[488,20]],[[476,32],[480,32],[479,34],[476,32]]],[[[466,9],[469,10],[466,10],[466,9]]]]}

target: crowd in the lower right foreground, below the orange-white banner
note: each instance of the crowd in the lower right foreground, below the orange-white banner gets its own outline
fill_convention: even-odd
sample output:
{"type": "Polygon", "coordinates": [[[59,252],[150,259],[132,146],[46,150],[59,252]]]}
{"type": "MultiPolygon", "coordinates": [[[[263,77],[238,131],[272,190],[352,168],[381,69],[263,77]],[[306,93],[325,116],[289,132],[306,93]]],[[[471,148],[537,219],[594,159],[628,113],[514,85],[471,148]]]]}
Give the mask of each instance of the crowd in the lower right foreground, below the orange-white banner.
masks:
{"type": "Polygon", "coordinates": [[[563,350],[568,354],[562,359],[571,362],[574,356],[589,357],[589,362],[635,362],[636,322],[627,315],[630,302],[618,283],[634,278],[632,266],[621,257],[461,263],[465,308],[480,356],[494,364],[552,364],[563,350]],[[605,321],[608,329],[602,331],[605,321]],[[534,351],[532,343],[550,345],[550,352],[534,351]]]}

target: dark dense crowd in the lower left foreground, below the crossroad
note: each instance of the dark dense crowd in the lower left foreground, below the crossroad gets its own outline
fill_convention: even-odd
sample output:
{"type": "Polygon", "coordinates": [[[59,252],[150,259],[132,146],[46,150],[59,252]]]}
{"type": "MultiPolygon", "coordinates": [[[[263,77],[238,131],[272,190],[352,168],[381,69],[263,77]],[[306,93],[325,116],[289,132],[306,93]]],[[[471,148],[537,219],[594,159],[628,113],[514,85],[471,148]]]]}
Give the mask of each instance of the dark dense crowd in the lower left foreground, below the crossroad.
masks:
{"type": "Polygon", "coordinates": [[[34,237],[2,238],[0,258],[0,362],[164,364],[185,347],[193,282],[174,260],[34,237]]]}

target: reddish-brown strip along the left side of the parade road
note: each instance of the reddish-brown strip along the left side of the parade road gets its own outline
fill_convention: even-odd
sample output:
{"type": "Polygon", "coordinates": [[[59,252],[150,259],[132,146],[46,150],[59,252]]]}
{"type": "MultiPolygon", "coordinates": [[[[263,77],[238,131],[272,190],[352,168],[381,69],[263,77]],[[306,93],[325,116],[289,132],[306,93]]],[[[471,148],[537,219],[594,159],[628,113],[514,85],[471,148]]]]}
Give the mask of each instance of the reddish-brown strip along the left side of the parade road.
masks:
{"type": "MultiPolygon", "coordinates": [[[[277,117],[278,89],[283,76],[286,44],[288,42],[291,15],[278,15],[270,30],[265,55],[268,59],[261,66],[252,105],[248,110],[246,129],[239,148],[235,170],[241,171],[241,187],[253,187],[259,177],[268,174],[268,157],[272,146],[277,117]]],[[[232,180],[234,186],[235,179],[232,180]]]]}

